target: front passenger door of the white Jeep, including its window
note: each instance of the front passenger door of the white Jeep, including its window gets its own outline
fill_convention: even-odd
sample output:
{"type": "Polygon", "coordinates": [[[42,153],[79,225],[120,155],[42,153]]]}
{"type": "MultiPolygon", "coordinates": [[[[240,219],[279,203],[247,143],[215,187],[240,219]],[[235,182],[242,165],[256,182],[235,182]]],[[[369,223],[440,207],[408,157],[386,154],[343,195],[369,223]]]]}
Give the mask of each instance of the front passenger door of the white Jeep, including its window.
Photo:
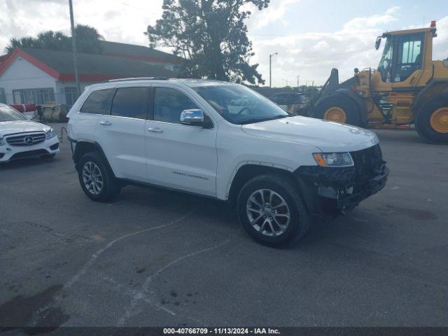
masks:
{"type": "Polygon", "coordinates": [[[177,88],[153,90],[153,120],[145,127],[148,181],[215,197],[216,125],[211,129],[181,125],[181,112],[200,106],[177,88]]]}

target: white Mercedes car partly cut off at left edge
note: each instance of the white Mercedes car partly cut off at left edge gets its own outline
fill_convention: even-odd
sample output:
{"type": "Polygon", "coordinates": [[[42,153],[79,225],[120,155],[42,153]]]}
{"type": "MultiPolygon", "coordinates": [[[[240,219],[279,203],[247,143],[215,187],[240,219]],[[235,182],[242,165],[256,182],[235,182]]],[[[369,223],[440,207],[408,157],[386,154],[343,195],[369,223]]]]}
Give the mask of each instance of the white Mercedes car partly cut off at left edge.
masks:
{"type": "Polygon", "coordinates": [[[28,120],[22,113],[0,104],[0,163],[59,153],[59,139],[50,126],[28,120]]]}

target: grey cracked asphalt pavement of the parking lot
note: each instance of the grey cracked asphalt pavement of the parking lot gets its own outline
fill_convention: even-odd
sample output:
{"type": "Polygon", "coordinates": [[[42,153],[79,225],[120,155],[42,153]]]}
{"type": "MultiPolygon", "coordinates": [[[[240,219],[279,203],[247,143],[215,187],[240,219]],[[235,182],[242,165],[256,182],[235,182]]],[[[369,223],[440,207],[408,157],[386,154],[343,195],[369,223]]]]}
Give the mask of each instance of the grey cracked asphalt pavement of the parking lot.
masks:
{"type": "Polygon", "coordinates": [[[281,249],[213,200],[92,202],[65,135],[53,160],[0,165],[0,326],[448,325],[448,146],[376,132],[384,190],[281,249]]]}

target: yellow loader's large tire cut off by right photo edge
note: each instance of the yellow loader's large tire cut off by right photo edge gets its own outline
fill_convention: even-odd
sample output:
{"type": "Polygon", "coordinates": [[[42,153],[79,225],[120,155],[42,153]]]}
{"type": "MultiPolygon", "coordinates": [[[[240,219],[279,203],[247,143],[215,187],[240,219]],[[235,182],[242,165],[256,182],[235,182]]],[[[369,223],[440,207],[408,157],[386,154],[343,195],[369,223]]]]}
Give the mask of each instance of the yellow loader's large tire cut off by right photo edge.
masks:
{"type": "Polygon", "coordinates": [[[423,103],[415,118],[415,129],[427,142],[448,144],[448,97],[434,97],[423,103]]]}

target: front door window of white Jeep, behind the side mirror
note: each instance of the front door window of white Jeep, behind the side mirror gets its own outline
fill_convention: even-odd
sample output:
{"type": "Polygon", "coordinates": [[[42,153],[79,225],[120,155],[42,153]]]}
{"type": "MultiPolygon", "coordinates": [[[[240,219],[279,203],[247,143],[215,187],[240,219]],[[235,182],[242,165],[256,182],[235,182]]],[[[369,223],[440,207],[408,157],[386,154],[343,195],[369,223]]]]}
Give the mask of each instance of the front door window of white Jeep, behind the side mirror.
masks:
{"type": "Polygon", "coordinates": [[[179,90],[156,87],[154,94],[154,120],[180,124],[183,110],[198,109],[195,103],[179,90]]]}

